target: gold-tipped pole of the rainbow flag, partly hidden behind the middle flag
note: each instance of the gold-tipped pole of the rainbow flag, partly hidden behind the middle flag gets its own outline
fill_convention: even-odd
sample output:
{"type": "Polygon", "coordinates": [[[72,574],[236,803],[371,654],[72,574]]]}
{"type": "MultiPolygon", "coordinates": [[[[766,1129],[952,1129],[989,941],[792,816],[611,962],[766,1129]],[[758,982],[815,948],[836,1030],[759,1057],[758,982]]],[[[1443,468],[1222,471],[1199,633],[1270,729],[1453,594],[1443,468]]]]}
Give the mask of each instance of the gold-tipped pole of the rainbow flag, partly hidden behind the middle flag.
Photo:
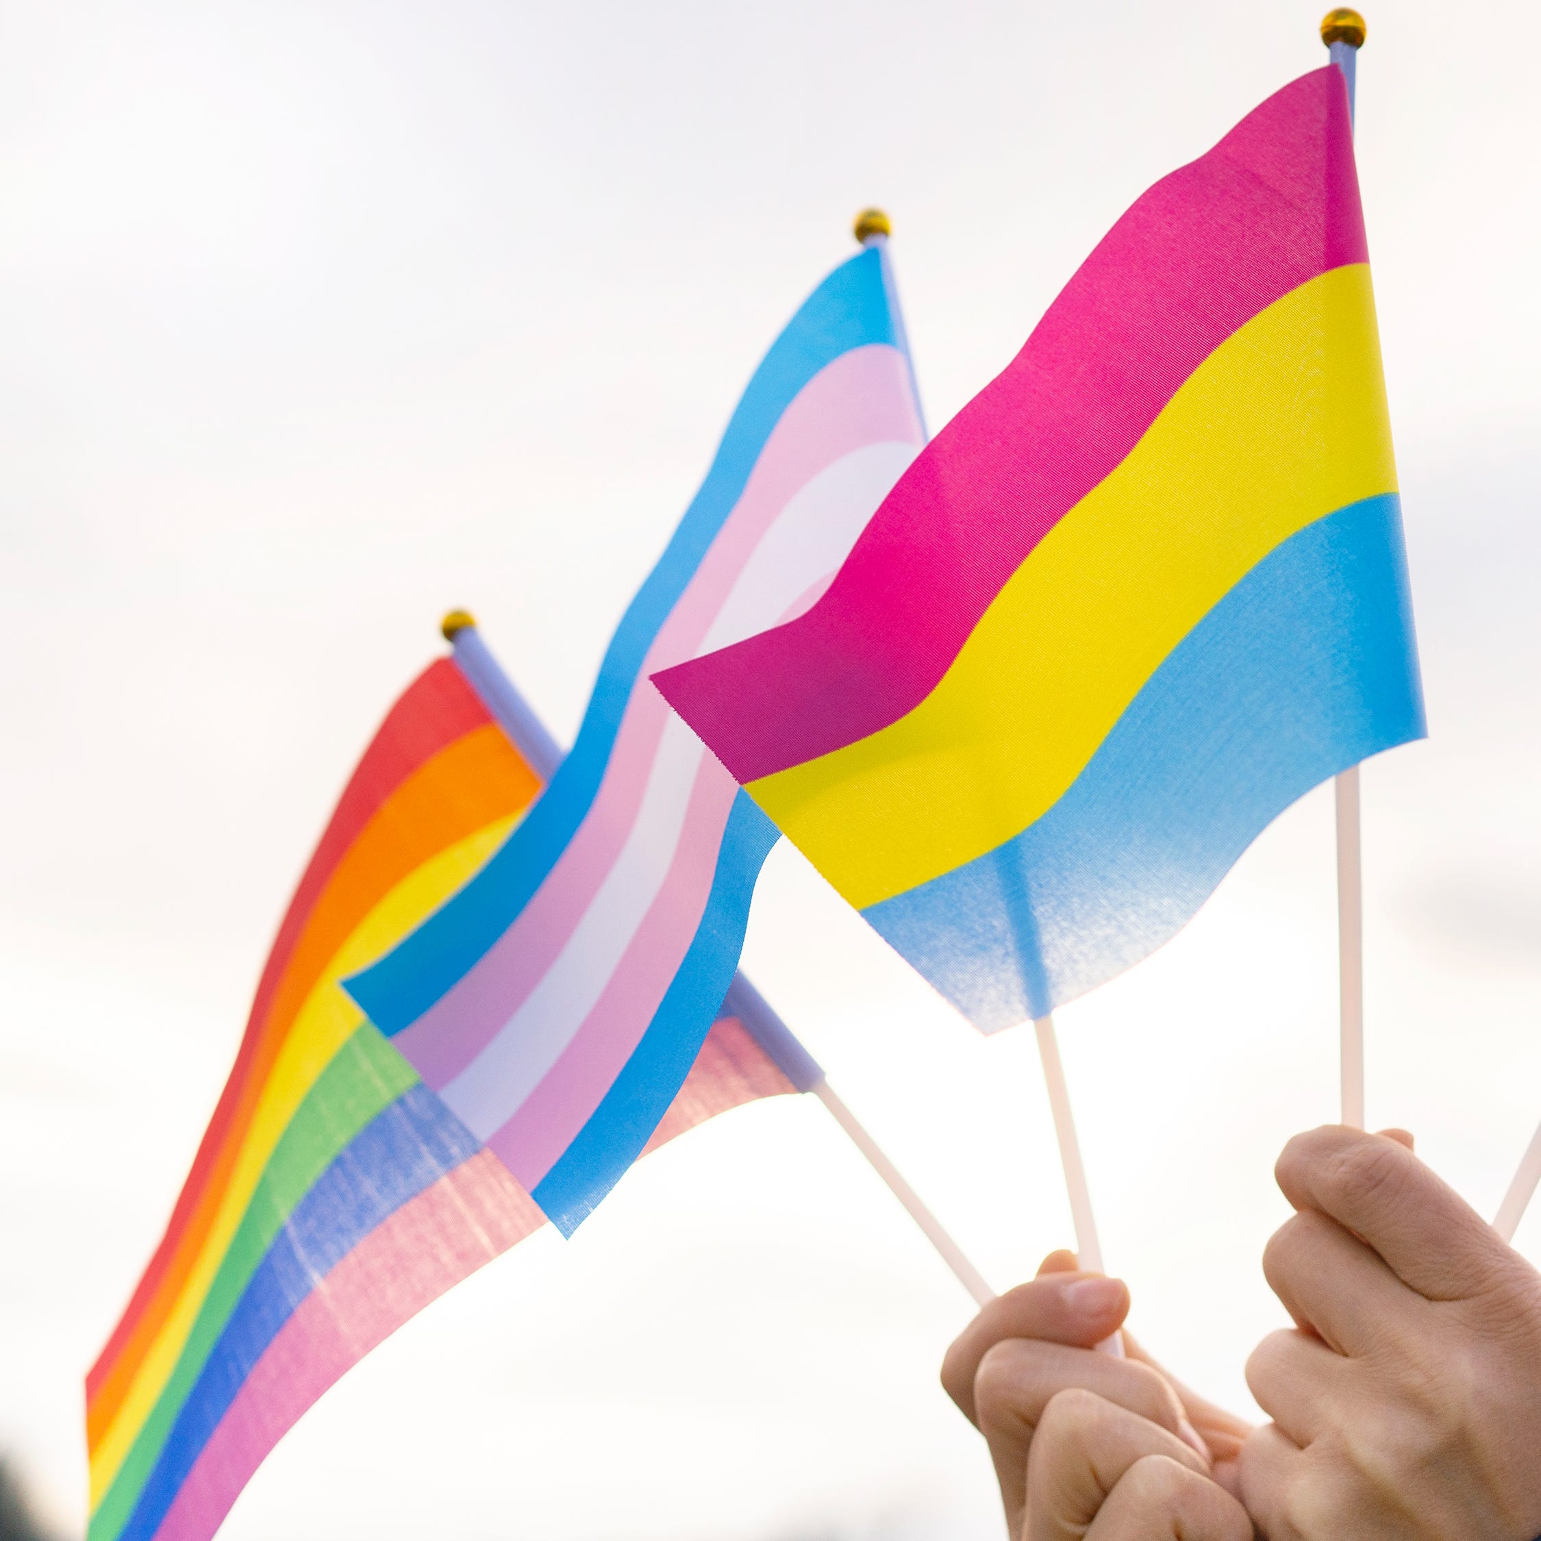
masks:
{"type": "MultiPolygon", "coordinates": [[[[482,641],[475,616],[467,610],[452,610],[444,618],[441,630],[445,641],[455,649],[456,664],[472,689],[481,697],[482,704],[529,761],[530,769],[541,781],[549,781],[562,763],[562,749],[546,730],[546,724],[535,715],[530,703],[519,693],[518,686],[502,672],[492,649],[482,641]]],[[[986,1305],[995,1299],[995,1291],[969,1262],[963,1248],[926,1208],[920,1194],[905,1182],[877,1140],[857,1122],[855,1114],[835,1096],[814,1056],[803,1048],[792,1029],[772,1011],[764,995],[743,974],[734,975],[723,1006],[744,1025],[750,1037],[798,1091],[811,1091],[829,1110],[974,1301],[979,1305],[986,1305]]]]}

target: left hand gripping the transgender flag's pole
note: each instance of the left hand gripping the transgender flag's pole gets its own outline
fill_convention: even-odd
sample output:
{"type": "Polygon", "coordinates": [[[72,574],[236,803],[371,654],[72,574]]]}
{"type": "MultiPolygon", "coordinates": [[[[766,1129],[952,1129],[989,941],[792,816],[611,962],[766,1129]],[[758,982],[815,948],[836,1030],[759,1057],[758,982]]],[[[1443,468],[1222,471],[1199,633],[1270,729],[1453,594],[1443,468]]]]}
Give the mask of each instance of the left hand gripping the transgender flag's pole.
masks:
{"type": "Polygon", "coordinates": [[[1012,1541],[1250,1538],[1241,1506],[1210,1479],[1190,1408],[1231,1458],[1247,1425],[1199,1398],[1185,1405],[1142,1358],[1094,1351],[1128,1304],[1122,1282],[1056,1253],[948,1350],[942,1384],[985,1435],[1012,1541]]]}

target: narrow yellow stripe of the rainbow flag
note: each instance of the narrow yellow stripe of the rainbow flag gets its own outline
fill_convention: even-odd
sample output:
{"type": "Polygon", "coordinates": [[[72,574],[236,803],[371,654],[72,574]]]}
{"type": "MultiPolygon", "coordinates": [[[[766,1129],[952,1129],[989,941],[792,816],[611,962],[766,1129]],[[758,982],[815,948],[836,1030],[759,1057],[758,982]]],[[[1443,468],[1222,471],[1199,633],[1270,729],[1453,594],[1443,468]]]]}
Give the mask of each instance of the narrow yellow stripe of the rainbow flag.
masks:
{"type": "Polygon", "coordinates": [[[251,1202],[251,1194],[256,1191],[257,1180],[279,1142],[279,1136],[294,1117],[316,1079],[364,1020],[362,1012],[337,985],[337,980],[373,963],[438,909],[450,894],[481,869],[516,823],[518,815],[501,818],[441,851],[408,877],[404,877],[359,922],[305,997],[284,1048],[273,1063],[273,1073],[262,1088],[262,1096],[253,1111],[251,1126],[220,1199],[219,1213],[188,1276],[186,1287],[177,1296],[165,1327],[146,1350],[134,1376],[133,1388],[123,1398],[117,1416],[103,1430],[102,1439],[91,1452],[92,1510],[112,1484],[112,1478],[117,1476],[119,1467],[133,1449],[139,1430],[165,1390],[166,1381],[171,1379],[203,1298],[214,1282],[219,1264],[247,1213],[247,1205],[251,1202]]]}

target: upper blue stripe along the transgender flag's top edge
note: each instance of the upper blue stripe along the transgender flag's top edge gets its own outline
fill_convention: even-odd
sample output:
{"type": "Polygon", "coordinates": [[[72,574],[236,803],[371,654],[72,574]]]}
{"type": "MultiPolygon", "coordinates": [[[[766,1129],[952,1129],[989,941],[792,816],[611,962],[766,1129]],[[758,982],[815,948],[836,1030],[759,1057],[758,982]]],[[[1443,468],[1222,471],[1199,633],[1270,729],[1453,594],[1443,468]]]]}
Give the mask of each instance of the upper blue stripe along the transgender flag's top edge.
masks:
{"type": "Polygon", "coordinates": [[[416,1022],[530,901],[589,812],[647,649],[738,504],[766,439],[820,370],[852,348],[885,342],[892,345],[895,334],[881,259],[866,250],[814,290],[755,370],[701,490],[610,641],[578,741],[550,786],[459,894],[394,951],[344,980],[382,1032],[416,1022]]]}

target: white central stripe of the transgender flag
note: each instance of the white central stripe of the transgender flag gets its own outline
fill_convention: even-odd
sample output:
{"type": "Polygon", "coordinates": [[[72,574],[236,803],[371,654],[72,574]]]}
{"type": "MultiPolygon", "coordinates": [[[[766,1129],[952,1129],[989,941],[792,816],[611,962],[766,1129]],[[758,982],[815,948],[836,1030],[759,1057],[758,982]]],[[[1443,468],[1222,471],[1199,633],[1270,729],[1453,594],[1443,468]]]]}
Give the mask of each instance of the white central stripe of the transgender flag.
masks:
{"type": "MultiPolygon", "coordinates": [[[[917,453],[914,444],[869,444],[800,487],[744,559],[701,652],[775,624],[838,567],[917,453]]],[[[704,754],[670,712],[636,820],[593,901],[519,1009],[441,1093],[479,1139],[513,1117],[598,1005],[669,875],[704,754]]]]}

